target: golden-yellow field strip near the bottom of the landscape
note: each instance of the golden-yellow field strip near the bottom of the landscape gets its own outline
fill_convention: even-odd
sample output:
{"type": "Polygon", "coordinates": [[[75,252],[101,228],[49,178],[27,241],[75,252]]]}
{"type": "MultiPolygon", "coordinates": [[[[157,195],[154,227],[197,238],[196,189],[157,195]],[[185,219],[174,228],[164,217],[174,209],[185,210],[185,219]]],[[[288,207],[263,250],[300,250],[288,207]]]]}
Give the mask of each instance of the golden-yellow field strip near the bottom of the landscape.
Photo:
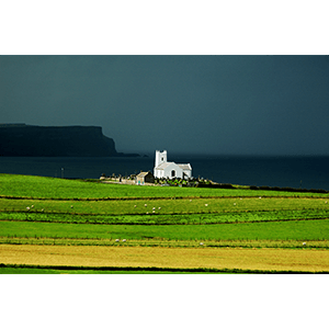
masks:
{"type": "Polygon", "coordinates": [[[1,245],[0,263],[329,272],[329,250],[1,245]]]}

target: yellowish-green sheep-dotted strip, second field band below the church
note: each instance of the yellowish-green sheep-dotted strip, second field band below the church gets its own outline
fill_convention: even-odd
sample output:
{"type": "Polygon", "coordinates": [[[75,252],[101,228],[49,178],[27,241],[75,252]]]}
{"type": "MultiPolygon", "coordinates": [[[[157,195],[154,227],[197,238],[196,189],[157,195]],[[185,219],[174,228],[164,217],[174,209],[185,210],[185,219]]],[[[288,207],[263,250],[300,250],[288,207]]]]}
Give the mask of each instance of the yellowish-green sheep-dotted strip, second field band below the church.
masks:
{"type": "Polygon", "coordinates": [[[161,198],[161,200],[111,200],[61,201],[0,198],[0,212],[99,214],[99,215],[171,215],[216,214],[269,211],[328,211],[325,198],[161,198]]]}

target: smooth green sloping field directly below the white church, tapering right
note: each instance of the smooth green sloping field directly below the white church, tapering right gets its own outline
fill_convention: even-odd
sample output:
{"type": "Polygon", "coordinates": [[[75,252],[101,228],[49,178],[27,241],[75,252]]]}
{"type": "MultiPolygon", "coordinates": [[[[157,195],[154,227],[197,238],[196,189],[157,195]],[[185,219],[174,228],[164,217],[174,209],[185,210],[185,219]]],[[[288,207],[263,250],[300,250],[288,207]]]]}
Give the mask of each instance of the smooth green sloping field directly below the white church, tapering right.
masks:
{"type": "Polygon", "coordinates": [[[0,173],[0,196],[30,198],[124,198],[124,197],[189,197],[189,196],[311,196],[329,194],[241,189],[195,189],[179,186],[139,186],[106,184],[98,180],[61,180],[56,178],[0,173]]]}

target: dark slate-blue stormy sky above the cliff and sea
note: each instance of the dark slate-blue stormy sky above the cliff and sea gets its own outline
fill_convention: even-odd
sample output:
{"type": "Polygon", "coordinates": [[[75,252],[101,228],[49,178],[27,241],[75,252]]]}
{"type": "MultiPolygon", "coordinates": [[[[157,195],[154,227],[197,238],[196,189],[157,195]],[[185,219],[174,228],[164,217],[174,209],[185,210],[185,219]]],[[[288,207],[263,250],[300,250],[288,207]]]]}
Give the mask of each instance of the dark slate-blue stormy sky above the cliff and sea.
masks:
{"type": "Polygon", "coordinates": [[[329,155],[329,59],[1,55],[0,123],[102,126],[124,152],[329,155]]]}

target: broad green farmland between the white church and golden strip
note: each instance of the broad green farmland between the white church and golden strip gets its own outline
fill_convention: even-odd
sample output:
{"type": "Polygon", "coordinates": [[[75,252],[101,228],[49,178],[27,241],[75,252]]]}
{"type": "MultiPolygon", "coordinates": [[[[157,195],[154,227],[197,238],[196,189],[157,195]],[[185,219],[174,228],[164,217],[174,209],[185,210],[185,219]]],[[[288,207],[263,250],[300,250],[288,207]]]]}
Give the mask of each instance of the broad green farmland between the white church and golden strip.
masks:
{"type": "Polygon", "coordinates": [[[1,245],[329,250],[329,194],[0,174],[1,245]]]}

